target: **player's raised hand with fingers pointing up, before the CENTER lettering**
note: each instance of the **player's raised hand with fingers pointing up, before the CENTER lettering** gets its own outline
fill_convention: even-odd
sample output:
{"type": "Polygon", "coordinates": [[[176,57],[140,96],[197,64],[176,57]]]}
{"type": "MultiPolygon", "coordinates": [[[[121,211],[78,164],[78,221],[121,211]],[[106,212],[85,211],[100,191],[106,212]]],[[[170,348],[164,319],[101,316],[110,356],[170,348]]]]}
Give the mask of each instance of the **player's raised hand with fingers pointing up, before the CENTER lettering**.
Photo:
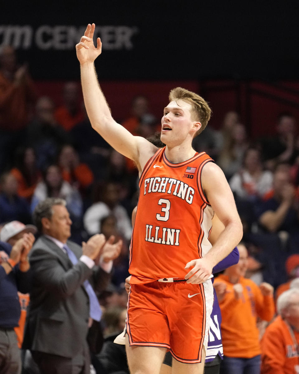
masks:
{"type": "Polygon", "coordinates": [[[96,47],[93,44],[93,34],[95,32],[95,24],[88,24],[84,35],[80,42],[76,45],[77,58],[80,64],[85,62],[93,62],[102,52],[101,39],[96,39],[96,47]]]}

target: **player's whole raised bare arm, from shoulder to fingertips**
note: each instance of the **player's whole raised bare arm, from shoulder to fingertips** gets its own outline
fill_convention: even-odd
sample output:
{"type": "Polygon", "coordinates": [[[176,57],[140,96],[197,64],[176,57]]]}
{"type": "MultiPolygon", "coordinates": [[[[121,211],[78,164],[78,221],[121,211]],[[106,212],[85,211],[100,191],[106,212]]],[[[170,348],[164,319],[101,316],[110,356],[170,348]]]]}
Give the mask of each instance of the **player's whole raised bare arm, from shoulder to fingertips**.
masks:
{"type": "Polygon", "coordinates": [[[145,163],[157,147],[142,137],[134,137],[123,126],[114,121],[105,96],[96,77],[94,61],[102,52],[101,39],[93,44],[95,24],[87,25],[84,36],[76,45],[80,61],[81,85],[86,111],[92,127],[119,153],[132,159],[142,171],[145,163]]]}

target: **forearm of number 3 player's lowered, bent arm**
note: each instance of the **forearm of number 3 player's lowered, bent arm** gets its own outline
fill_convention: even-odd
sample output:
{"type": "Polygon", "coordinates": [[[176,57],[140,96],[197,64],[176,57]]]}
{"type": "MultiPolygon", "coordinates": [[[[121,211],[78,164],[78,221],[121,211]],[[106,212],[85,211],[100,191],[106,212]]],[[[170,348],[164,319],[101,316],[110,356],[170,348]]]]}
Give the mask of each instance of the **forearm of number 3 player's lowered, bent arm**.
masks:
{"type": "Polygon", "coordinates": [[[243,229],[241,222],[237,221],[227,224],[215,244],[204,257],[213,264],[213,267],[216,266],[240,243],[242,236],[243,229]]]}

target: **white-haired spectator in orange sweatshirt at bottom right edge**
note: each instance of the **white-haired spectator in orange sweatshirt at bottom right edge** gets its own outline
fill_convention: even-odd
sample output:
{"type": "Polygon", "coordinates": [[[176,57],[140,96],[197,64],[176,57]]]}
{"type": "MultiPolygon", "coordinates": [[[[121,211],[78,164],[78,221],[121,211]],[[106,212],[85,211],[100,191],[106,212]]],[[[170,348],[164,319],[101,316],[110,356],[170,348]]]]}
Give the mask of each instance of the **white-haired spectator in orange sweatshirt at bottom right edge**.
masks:
{"type": "Polygon", "coordinates": [[[299,289],[277,299],[278,316],[266,328],[262,346],[262,374],[299,373],[299,289]]]}

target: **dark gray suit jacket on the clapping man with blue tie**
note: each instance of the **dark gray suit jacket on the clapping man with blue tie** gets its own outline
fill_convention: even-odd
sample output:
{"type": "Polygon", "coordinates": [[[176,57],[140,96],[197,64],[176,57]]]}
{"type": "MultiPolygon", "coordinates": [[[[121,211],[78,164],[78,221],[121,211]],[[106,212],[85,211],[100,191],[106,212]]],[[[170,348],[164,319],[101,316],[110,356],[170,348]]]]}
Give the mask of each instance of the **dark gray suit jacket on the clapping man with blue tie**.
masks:
{"type": "MultiPolygon", "coordinates": [[[[79,259],[82,249],[67,241],[79,259]]],[[[110,275],[100,267],[73,265],[52,240],[41,236],[30,253],[33,287],[27,312],[23,348],[71,358],[86,344],[89,297],[83,282],[102,291],[110,275]]]]}

